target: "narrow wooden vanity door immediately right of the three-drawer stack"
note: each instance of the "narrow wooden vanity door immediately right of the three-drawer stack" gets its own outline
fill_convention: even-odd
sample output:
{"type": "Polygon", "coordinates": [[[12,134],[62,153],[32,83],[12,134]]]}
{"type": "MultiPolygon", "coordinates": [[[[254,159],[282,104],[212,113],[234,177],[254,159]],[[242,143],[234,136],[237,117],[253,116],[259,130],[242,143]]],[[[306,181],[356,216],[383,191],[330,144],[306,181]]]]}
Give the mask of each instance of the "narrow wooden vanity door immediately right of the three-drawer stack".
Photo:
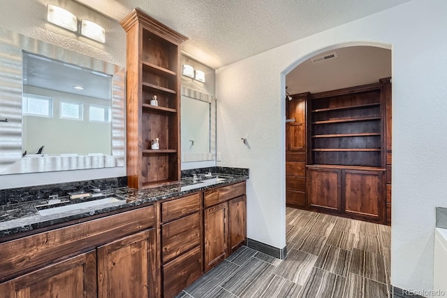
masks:
{"type": "Polygon", "coordinates": [[[227,202],[205,209],[205,271],[209,271],[227,254],[227,202]]]}

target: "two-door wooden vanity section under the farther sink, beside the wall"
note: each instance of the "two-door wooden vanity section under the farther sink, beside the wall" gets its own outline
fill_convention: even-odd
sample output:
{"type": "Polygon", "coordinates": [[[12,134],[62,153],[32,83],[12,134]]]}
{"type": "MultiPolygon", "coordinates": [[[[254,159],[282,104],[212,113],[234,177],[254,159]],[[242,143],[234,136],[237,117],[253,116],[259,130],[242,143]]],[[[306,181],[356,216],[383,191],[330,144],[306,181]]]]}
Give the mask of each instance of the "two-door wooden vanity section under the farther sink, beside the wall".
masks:
{"type": "Polygon", "coordinates": [[[247,241],[245,182],[204,194],[205,272],[247,241]]]}

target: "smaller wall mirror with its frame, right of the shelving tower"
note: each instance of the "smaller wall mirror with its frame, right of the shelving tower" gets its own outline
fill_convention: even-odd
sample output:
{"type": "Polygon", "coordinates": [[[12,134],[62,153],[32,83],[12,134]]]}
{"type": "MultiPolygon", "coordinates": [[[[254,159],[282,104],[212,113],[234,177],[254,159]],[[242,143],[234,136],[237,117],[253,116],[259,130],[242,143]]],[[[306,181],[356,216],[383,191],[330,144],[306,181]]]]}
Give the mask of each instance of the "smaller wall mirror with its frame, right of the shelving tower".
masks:
{"type": "Polygon", "coordinates": [[[214,160],[216,99],[182,87],[182,162],[214,160]]]}

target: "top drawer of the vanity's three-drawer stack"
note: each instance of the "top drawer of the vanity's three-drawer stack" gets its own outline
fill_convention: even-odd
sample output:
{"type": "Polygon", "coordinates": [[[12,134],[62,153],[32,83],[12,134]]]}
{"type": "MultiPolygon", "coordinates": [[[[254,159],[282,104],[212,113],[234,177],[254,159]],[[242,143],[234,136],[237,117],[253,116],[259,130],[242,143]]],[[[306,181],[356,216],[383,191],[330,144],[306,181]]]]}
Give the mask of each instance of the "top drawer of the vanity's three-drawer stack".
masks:
{"type": "Polygon", "coordinates": [[[168,222],[200,210],[200,193],[161,203],[161,222],[168,222]]]}

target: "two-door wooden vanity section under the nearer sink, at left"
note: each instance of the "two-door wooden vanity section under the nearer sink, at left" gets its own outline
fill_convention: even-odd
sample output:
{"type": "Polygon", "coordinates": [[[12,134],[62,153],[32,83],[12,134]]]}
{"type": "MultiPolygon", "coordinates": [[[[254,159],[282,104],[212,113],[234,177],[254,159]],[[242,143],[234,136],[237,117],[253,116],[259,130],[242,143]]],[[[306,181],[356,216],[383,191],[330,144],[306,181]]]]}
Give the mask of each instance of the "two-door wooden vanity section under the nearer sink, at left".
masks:
{"type": "Polygon", "coordinates": [[[154,225],[154,206],[147,206],[0,243],[0,292],[159,297],[154,225]],[[131,287],[140,288],[128,295],[131,287]]]}

